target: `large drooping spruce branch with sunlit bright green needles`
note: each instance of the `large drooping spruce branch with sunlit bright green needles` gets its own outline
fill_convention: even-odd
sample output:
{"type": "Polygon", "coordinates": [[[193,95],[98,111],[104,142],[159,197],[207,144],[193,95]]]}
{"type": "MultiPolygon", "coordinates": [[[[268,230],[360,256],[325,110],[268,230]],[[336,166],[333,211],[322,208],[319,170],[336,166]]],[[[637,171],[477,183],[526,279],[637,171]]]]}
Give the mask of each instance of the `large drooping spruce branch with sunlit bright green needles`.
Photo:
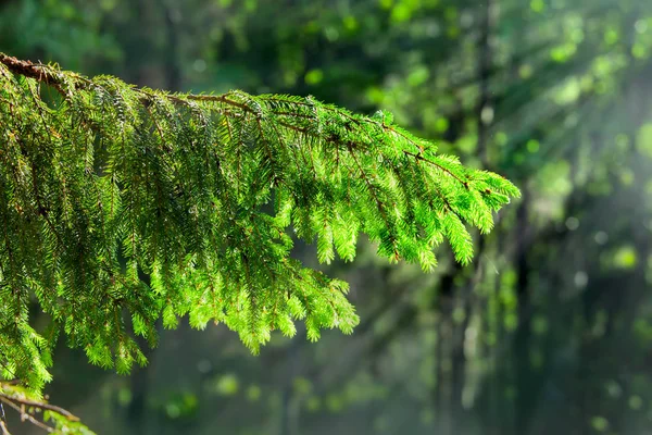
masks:
{"type": "Polygon", "coordinates": [[[224,323],[254,352],[296,320],[311,340],[351,333],[347,284],[293,260],[292,231],[316,239],[322,262],[353,260],[364,233],[380,256],[428,271],[444,239],[467,263],[465,225],[488,232],[518,195],[388,113],[32,64],[0,65],[0,355],[5,377],[35,387],[60,331],[122,373],[145,364],[133,335],[154,345],[160,318],[224,323]],[[45,334],[28,324],[32,298],[52,319],[45,334]]]}

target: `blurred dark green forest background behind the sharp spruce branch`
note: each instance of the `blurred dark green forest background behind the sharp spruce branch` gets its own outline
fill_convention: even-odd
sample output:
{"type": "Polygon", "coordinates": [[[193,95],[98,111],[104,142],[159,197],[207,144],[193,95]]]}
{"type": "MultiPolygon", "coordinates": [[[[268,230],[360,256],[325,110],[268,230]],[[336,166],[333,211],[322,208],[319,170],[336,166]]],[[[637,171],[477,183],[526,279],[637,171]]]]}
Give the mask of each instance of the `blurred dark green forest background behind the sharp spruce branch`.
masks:
{"type": "Polygon", "coordinates": [[[47,391],[98,433],[652,434],[652,1],[4,0],[0,51],[386,109],[523,191],[467,268],[299,246],[351,283],[352,336],[253,357],[186,322],[130,376],[62,344],[47,391]]]}

